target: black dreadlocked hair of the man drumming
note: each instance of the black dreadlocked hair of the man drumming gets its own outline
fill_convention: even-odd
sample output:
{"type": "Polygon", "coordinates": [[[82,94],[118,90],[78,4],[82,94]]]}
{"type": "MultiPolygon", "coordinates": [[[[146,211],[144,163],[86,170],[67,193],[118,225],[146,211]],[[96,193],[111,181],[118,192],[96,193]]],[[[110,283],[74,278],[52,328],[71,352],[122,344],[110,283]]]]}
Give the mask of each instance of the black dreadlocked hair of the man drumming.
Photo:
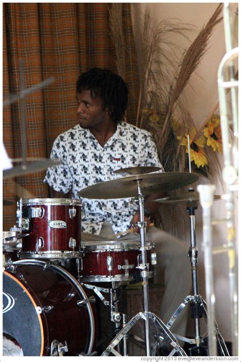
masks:
{"type": "Polygon", "coordinates": [[[91,68],[77,80],[76,92],[83,89],[91,90],[92,98],[102,98],[103,108],[108,108],[113,122],[122,122],[128,103],[128,86],[122,77],[108,69],[91,68]]]}

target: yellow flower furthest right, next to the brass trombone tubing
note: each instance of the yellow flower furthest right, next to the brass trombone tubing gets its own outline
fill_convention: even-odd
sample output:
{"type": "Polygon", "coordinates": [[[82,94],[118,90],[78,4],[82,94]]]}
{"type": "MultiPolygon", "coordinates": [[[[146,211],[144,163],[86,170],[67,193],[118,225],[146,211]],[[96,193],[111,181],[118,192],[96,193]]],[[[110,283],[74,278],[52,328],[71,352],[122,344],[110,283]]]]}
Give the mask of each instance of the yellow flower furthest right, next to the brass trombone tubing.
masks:
{"type": "Polygon", "coordinates": [[[212,146],[214,152],[218,149],[218,152],[222,153],[222,134],[220,127],[220,118],[214,114],[206,123],[206,127],[203,130],[204,136],[207,138],[207,145],[212,146]]]}

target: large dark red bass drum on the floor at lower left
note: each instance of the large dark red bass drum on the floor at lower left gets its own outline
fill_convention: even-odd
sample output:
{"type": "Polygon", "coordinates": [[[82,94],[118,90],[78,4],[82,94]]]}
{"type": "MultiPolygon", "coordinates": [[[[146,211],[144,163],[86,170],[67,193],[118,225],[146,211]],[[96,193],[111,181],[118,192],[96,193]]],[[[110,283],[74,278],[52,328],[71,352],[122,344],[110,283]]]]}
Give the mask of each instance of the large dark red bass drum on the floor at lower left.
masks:
{"type": "Polygon", "coordinates": [[[3,333],[24,356],[91,355],[94,313],[82,286],[61,266],[21,260],[4,271],[3,333]]]}

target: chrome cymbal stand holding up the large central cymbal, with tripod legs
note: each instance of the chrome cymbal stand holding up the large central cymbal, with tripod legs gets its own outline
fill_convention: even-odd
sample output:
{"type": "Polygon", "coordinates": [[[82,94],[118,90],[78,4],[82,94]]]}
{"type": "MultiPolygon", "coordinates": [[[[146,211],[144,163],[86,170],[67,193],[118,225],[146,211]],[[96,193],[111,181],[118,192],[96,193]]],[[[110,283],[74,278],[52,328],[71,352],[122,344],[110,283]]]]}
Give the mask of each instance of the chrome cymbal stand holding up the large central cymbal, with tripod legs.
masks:
{"type": "Polygon", "coordinates": [[[167,339],[168,343],[173,347],[170,352],[170,356],[177,353],[178,355],[186,356],[185,351],[178,345],[177,340],[174,335],[168,329],[168,327],[162,322],[162,320],[156,316],[154,313],[149,312],[149,289],[148,289],[148,264],[146,257],[146,222],[144,221],[144,197],[141,192],[140,180],[136,179],[137,182],[137,191],[138,191],[138,203],[139,203],[139,212],[140,212],[140,221],[133,225],[134,227],[138,227],[140,229],[140,243],[141,243],[141,258],[142,262],[139,264],[138,268],[140,269],[140,274],[142,277],[142,287],[143,287],[143,308],[144,312],[137,313],[127,324],[126,326],[119,331],[117,336],[112,340],[106,350],[102,353],[102,356],[109,355],[110,353],[115,356],[120,356],[118,351],[115,350],[115,346],[118,345],[120,341],[126,338],[129,330],[137,323],[139,319],[144,320],[144,332],[145,332],[145,348],[146,348],[146,356],[155,355],[157,344],[162,343],[164,337],[167,339]],[[154,323],[158,333],[157,336],[153,336],[156,339],[156,343],[151,349],[151,341],[150,341],[150,321],[154,323]],[[154,354],[153,354],[154,353],[154,354]]]}

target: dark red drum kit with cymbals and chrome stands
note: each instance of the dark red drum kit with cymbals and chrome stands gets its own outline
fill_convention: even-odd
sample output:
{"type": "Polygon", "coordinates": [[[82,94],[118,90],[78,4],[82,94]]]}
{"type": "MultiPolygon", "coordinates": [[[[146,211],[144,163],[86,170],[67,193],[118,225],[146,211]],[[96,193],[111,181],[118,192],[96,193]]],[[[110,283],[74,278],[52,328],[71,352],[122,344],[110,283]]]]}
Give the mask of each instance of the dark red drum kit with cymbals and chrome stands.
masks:
{"type": "MultiPolygon", "coordinates": [[[[149,311],[148,279],[154,276],[158,261],[154,244],[146,241],[144,221],[144,196],[193,184],[198,176],[187,172],[152,171],[157,168],[118,170],[116,173],[124,177],[79,192],[80,197],[87,198],[134,197],[139,204],[140,221],[133,227],[140,230],[140,243],[82,240],[80,230],[84,212],[80,200],[46,198],[17,202],[16,225],[3,236],[3,333],[5,340],[17,345],[22,355],[96,355],[95,296],[110,307],[111,321],[117,330],[114,339],[101,352],[103,356],[128,355],[130,329],[139,320],[144,321],[147,356],[159,353],[164,338],[171,347],[170,356],[186,355],[177,342],[180,336],[172,334],[170,326],[189,302],[194,306],[196,325],[196,337],[190,343],[195,343],[200,352],[202,339],[198,323],[201,316],[197,311],[202,309],[204,300],[197,289],[193,218],[190,216],[192,245],[189,255],[192,270],[195,270],[192,272],[193,295],[185,299],[167,325],[149,311]],[[127,316],[118,312],[117,290],[135,281],[136,275],[142,281],[143,311],[127,322],[127,316]],[[109,295],[108,300],[103,293],[109,295]]],[[[155,201],[185,202],[190,215],[194,215],[198,196],[192,189],[178,197],[155,201]]],[[[228,355],[223,339],[218,335],[223,355],[228,355]]]]}

